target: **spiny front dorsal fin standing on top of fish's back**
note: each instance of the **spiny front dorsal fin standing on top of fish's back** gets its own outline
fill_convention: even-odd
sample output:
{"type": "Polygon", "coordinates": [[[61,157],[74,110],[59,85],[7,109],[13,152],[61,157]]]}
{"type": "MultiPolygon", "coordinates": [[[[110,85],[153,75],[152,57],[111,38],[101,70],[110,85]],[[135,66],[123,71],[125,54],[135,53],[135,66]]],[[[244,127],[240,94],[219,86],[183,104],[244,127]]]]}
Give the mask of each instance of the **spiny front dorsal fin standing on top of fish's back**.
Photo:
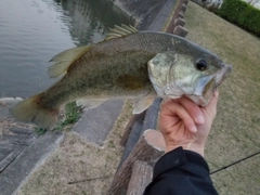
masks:
{"type": "Polygon", "coordinates": [[[110,28],[110,31],[107,34],[105,40],[109,40],[109,39],[115,39],[115,38],[119,38],[119,37],[126,37],[132,34],[138,32],[139,30],[136,28],[134,28],[133,26],[127,26],[125,24],[122,24],[121,26],[115,26],[115,28],[110,28]]]}

